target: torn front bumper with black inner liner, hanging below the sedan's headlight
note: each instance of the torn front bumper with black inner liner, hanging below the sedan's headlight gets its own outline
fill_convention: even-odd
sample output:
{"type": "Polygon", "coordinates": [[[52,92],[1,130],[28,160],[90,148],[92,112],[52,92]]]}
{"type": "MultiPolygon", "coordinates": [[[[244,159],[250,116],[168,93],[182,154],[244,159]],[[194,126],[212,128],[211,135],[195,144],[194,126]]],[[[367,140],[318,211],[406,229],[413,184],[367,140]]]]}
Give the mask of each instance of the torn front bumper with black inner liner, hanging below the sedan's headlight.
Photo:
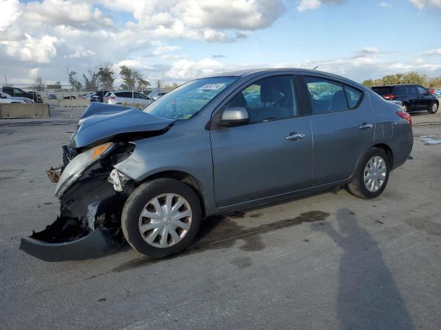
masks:
{"type": "MultiPolygon", "coordinates": [[[[58,181],[59,169],[48,176],[58,181]]],[[[21,239],[20,250],[44,261],[79,261],[110,254],[123,243],[121,211],[127,199],[109,182],[110,173],[85,175],[60,199],[57,220],[21,239]]]]}

